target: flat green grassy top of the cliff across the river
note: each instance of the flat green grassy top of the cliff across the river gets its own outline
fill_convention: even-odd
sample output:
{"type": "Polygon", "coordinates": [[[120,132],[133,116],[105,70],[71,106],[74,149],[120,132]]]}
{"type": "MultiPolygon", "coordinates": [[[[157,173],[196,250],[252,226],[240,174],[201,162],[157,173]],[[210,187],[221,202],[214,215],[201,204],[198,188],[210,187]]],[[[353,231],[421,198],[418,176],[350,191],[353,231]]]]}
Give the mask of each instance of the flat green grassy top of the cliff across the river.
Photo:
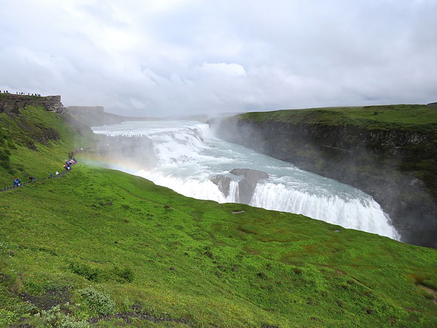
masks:
{"type": "Polygon", "coordinates": [[[246,113],[240,117],[257,122],[347,124],[375,130],[398,129],[422,133],[437,132],[437,110],[420,104],[286,109],[246,113]]]}

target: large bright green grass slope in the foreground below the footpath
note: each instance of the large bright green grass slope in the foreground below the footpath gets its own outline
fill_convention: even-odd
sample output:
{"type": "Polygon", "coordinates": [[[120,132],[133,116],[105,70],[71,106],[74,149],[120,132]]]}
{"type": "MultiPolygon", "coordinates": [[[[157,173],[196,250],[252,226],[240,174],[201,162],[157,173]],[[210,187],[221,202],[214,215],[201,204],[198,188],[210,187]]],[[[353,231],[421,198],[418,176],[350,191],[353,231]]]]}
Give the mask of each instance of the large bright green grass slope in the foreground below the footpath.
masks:
{"type": "Polygon", "coordinates": [[[0,216],[3,326],[437,326],[436,250],[302,215],[76,165],[2,193],[0,216]]]}

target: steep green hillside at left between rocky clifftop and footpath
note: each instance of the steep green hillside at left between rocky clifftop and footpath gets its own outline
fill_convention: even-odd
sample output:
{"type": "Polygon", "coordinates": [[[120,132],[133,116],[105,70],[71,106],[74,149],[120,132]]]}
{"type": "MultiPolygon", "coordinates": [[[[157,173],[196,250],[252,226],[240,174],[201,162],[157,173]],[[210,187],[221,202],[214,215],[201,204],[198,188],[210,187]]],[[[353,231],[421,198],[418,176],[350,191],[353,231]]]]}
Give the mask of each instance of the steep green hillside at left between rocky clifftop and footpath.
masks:
{"type": "Polygon", "coordinates": [[[24,182],[31,175],[61,172],[67,153],[89,146],[93,138],[91,131],[41,106],[26,106],[19,115],[0,113],[0,188],[11,186],[16,175],[24,182]]]}

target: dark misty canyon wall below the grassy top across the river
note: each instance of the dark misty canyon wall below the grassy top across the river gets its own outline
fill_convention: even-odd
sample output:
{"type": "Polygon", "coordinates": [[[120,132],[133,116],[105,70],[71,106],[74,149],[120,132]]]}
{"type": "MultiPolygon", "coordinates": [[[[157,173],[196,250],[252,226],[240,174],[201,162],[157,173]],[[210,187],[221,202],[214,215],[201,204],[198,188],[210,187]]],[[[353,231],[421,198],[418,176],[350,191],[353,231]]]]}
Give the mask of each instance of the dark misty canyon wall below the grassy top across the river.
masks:
{"type": "Polygon", "coordinates": [[[365,191],[403,242],[437,248],[436,134],[353,124],[235,116],[210,121],[219,138],[365,191]]]}

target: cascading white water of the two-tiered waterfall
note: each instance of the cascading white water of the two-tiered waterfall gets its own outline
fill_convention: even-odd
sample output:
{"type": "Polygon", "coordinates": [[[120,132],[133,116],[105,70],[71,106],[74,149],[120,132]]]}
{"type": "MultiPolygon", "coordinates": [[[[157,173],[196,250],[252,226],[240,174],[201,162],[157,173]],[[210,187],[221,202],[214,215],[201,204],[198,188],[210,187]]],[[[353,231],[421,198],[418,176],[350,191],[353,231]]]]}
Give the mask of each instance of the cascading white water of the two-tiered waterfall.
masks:
{"type": "MultiPolygon", "coordinates": [[[[292,213],[398,239],[388,216],[371,196],[338,181],[302,171],[290,163],[215,138],[207,124],[192,121],[135,121],[93,127],[108,136],[147,135],[153,142],[154,168],[132,171],[180,194],[219,203],[238,202],[235,168],[269,174],[258,181],[250,205],[292,213]],[[225,196],[211,181],[217,175],[232,178],[225,196]]],[[[221,183],[221,182],[220,182],[221,183]]]]}

